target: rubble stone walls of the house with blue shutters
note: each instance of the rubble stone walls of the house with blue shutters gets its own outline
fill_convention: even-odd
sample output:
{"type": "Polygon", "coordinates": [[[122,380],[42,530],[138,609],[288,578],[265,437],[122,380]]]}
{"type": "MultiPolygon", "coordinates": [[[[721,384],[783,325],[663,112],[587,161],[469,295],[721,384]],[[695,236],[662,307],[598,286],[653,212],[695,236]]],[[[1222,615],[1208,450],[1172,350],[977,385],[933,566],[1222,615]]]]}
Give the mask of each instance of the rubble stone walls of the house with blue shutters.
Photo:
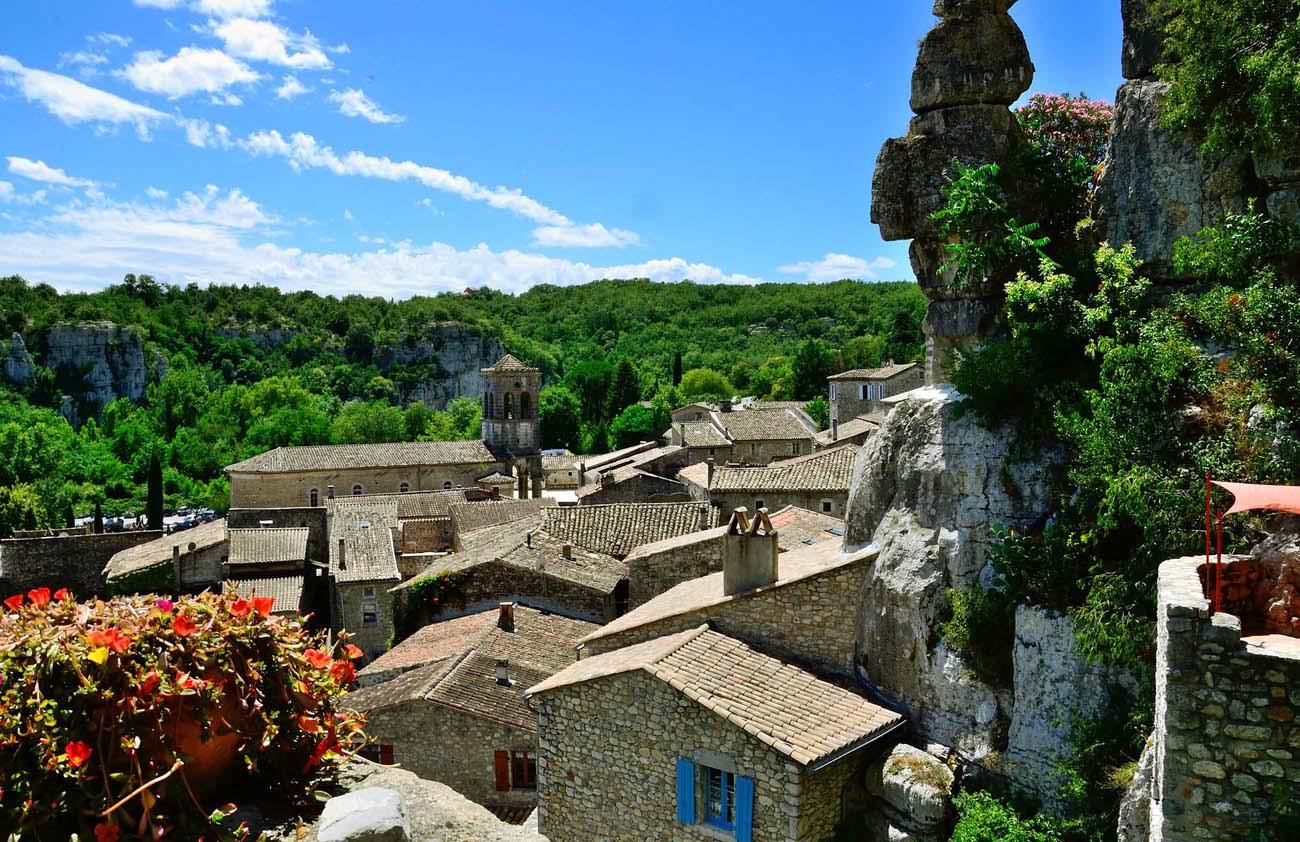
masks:
{"type": "Polygon", "coordinates": [[[685,758],[754,778],[754,842],[822,842],[840,819],[844,780],[864,763],[858,752],[809,774],[640,670],[560,687],[532,706],[540,713],[538,829],[551,839],[725,838],[677,821],[676,763],[685,758]]]}

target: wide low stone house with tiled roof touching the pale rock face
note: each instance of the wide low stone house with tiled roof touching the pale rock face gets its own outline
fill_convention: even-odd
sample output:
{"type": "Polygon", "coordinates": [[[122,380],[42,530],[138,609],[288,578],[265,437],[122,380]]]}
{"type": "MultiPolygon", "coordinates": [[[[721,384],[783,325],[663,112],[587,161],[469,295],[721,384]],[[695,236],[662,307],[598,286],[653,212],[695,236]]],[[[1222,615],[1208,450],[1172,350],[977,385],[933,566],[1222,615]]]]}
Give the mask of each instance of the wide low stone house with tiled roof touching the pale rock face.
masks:
{"type": "Polygon", "coordinates": [[[844,517],[858,448],[844,444],[771,465],[714,465],[685,477],[692,498],[707,499],[723,512],[786,505],[844,517]]]}

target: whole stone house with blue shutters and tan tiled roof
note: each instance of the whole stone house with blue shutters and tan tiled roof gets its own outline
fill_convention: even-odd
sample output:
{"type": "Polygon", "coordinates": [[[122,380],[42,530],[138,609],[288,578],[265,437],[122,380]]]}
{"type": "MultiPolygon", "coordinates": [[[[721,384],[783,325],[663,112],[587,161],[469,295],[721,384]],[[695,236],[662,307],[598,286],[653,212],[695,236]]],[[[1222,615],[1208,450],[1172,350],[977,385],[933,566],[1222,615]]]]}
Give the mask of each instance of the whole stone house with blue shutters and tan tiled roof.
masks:
{"type": "Polygon", "coordinates": [[[905,724],[707,625],[584,657],[528,699],[552,839],[822,842],[905,724]]]}

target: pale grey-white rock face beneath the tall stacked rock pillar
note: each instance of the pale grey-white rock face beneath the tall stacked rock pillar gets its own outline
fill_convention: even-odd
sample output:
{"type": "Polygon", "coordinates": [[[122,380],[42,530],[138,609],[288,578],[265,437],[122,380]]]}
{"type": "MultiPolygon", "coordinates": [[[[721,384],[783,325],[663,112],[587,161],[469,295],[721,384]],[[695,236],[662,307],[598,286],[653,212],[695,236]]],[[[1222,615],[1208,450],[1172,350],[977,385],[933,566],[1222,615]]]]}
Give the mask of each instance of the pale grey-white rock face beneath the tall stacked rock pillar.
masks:
{"type": "Polygon", "coordinates": [[[942,643],[948,590],[980,580],[992,528],[1028,526],[1052,503],[1045,461],[1013,459],[1011,429],[985,430],[950,387],[914,392],[858,455],[845,543],[875,543],[858,646],[862,677],[918,732],[968,760],[1002,752],[1013,695],[942,643]]]}

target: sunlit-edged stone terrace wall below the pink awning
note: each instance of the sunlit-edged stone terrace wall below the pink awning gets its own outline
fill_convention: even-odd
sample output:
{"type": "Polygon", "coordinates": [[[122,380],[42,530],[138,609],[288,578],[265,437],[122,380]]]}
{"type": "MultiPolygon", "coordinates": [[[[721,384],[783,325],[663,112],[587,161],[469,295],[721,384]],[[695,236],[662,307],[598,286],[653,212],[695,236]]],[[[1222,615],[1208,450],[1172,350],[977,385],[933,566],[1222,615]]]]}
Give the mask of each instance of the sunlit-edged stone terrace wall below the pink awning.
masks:
{"type": "Polygon", "coordinates": [[[1160,567],[1150,821],[1164,842],[1243,839],[1300,802],[1300,642],[1243,641],[1238,616],[1212,616],[1202,564],[1160,567]]]}

